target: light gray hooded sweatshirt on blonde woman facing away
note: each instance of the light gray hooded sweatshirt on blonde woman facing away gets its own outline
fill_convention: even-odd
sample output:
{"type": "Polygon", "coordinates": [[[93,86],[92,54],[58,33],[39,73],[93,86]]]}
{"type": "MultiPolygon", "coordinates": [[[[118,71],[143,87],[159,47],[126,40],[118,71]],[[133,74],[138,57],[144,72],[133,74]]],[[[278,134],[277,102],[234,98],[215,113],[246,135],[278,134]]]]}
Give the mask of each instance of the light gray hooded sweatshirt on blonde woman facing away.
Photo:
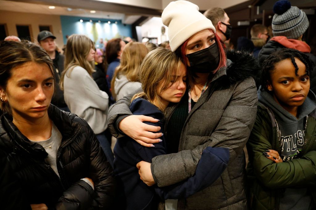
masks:
{"type": "Polygon", "coordinates": [[[131,82],[126,78],[125,75],[118,75],[118,77],[115,78],[114,82],[116,101],[120,100],[124,96],[127,96],[128,94],[131,94],[141,87],[142,84],[140,82],[131,82]]]}

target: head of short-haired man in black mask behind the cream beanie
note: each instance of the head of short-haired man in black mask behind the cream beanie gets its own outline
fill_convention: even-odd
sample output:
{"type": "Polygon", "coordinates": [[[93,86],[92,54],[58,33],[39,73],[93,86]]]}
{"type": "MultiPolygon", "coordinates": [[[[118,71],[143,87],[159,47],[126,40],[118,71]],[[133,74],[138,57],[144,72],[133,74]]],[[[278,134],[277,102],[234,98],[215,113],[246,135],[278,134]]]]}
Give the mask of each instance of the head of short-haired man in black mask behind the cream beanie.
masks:
{"type": "Polygon", "coordinates": [[[219,7],[211,8],[206,10],[203,15],[212,21],[216,34],[221,39],[223,46],[225,46],[224,42],[230,39],[232,34],[232,26],[224,9],[219,7]]]}

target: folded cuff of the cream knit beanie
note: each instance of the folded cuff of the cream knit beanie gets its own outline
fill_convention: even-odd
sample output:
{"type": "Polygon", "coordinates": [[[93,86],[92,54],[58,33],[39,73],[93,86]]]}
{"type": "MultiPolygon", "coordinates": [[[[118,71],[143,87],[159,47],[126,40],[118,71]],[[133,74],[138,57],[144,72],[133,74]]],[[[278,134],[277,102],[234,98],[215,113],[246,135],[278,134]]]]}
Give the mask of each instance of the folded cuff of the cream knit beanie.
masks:
{"type": "Polygon", "coordinates": [[[169,44],[170,44],[171,50],[174,52],[188,38],[190,38],[195,33],[200,32],[204,29],[212,29],[214,33],[216,32],[215,27],[213,26],[212,22],[207,18],[197,20],[191,23],[190,25],[185,26],[170,39],[169,44]]]}

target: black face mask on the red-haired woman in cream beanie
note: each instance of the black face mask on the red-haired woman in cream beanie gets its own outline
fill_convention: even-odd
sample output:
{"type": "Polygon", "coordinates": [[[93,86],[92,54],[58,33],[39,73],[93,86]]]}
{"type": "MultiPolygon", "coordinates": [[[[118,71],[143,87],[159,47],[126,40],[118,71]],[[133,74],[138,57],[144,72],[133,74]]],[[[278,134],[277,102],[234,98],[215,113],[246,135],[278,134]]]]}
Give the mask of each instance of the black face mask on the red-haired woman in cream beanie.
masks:
{"type": "Polygon", "coordinates": [[[188,69],[195,73],[210,73],[217,68],[219,62],[219,52],[216,43],[186,56],[190,62],[188,69]]]}

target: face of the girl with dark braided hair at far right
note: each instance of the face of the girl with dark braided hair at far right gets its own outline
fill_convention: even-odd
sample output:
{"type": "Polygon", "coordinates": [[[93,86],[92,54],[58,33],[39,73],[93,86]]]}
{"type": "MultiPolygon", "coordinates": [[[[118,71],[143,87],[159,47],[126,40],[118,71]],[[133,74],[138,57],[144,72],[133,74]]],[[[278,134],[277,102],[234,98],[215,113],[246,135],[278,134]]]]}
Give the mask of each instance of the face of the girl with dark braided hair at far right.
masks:
{"type": "Polygon", "coordinates": [[[298,76],[295,75],[295,67],[288,58],[275,65],[267,85],[268,90],[273,91],[274,100],[285,110],[301,106],[310,87],[304,63],[298,58],[295,58],[295,62],[298,66],[298,76]]]}

